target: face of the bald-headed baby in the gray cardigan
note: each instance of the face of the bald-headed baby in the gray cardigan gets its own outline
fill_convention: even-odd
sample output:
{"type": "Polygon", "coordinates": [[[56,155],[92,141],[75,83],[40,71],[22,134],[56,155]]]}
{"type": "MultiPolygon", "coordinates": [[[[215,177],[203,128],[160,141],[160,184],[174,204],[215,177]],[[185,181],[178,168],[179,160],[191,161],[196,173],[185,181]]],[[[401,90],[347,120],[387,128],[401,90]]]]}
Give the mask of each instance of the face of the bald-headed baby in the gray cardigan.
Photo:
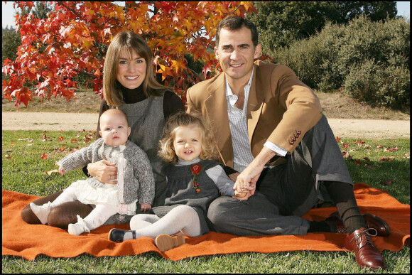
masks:
{"type": "Polygon", "coordinates": [[[100,116],[100,129],[100,136],[109,146],[126,144],[131,131],[126,116],[120,111],[116,112],[116,109],[109,109],[100,116]]]}

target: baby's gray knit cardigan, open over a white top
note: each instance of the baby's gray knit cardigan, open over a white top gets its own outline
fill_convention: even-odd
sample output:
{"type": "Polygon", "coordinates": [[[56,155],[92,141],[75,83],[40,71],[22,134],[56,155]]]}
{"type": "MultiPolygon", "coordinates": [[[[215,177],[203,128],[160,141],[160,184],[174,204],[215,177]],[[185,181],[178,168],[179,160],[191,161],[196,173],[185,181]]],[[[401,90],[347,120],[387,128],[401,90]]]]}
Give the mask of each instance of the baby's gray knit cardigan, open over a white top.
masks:
{"type": "MultiPolygon", "coordinates": [[[[97,139],[94,143],[85,148],[70,153],[58,163],[65,169],[65,172],[87,166],[88,163],[94,163],[104,159],[104,141],[102,138],[97,139]]],[[[123,194],[119,193],[119,203],[129,204],[134,200],[139,203],[153,203],[155,195],[155,181],[153,171],[148,161],[146,153],[131,141],[126,142],[126,149],[123,151],[126,165],[124,167],[124,186],[123,194]],[[123,199],[121,199],[123,198],[123,199]]],[[[90,176],[87,183],[92,186],[102,187],[104,183],[90,176]]],[[[120,182],[118,184],[121,184],[120,182]]]]}

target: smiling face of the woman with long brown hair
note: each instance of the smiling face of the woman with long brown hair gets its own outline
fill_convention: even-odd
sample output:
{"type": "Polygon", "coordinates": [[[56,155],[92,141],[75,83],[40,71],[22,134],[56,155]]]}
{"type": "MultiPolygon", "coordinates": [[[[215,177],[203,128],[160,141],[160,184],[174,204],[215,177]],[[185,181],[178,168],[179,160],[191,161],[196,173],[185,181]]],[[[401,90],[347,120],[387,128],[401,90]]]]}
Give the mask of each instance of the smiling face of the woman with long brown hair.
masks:
{"type": "Polygon", "coordinates": [[[119,55],[117,80],[128,89],[136,89],[146,77],[146,60],[134,50],[123,49],[119,55]]]}

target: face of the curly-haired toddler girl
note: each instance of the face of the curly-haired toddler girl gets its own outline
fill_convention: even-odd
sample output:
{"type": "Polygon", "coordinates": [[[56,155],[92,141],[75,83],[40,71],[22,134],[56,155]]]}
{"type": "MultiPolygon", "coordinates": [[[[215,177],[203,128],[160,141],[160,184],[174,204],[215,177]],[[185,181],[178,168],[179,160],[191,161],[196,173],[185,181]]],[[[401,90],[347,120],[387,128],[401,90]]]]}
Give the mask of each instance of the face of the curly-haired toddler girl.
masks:
{"type": "Polygon", "coordinates": [[[180,126],[175,131],[173,149],[176,156],[184,161],[193,161],[202,152],[202,139],[197,126],[180,126]]]}

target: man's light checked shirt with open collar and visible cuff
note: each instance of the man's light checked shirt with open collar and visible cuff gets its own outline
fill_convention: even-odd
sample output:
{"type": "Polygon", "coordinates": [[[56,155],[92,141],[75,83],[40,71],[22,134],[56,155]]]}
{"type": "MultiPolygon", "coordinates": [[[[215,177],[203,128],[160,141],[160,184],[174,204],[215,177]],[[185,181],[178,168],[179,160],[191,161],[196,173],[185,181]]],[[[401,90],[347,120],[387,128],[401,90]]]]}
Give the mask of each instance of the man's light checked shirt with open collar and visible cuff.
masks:
{"type": "MultiPolygon", "coordinates": [[[[227,102],[227,114],[229,116],[230,133],[232,134],[232,147],[233,147],[233,168],[236,171],[242,172],[244,169],[254,160],[251,154],[249,134],[247,132],[247,119],[246,119],[246,107],[249,99],[249,92],[251,87],[251,81],[253,79],[254,68],[251,72],[249,82],[244,87],[244,105],[243,109],[239,109],[234,104],[239,97],[234,95],[232,89],[226,82],[226,102],[227,102]]],[[[286,150],[276,146],[276,144],[266,141],[264,144],[267,148],[275,151],[279,156],[285,156],[286,150]]]]}

